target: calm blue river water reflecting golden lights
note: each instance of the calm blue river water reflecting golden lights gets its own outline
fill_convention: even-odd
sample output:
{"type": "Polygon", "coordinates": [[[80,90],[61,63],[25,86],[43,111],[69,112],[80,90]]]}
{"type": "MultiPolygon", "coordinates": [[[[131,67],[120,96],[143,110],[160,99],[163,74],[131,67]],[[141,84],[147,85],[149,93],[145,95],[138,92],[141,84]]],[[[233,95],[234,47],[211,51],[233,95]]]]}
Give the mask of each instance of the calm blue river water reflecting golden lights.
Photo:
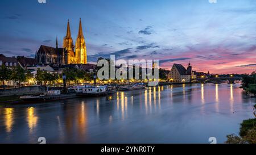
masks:
{"type": "Polygon", "coordinates": [[[0,107],[0,143],[209,143],[239,132],[255,99],[239,84],[193,84],[118,91],[0,107]]]}

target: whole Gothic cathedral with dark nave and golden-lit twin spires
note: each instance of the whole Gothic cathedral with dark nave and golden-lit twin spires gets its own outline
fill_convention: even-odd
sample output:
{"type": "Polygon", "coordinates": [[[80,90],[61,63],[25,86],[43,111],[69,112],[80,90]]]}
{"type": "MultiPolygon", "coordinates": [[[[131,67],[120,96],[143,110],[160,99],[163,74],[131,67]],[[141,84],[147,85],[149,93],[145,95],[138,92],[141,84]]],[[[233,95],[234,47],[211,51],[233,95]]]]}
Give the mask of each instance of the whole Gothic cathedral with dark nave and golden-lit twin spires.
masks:
{"type": "Polygon", "coordinates": [[[58,40],[56,38],[55,48],[41,45],[38,52],[35,54],[35,58],[39,64],[87,64],[86,46],[84,35],[82,33],[81,18],[75,46],[73,44],[68,20],[67,33],[63,39],[63,47],[59,48],[58,40]]]}

